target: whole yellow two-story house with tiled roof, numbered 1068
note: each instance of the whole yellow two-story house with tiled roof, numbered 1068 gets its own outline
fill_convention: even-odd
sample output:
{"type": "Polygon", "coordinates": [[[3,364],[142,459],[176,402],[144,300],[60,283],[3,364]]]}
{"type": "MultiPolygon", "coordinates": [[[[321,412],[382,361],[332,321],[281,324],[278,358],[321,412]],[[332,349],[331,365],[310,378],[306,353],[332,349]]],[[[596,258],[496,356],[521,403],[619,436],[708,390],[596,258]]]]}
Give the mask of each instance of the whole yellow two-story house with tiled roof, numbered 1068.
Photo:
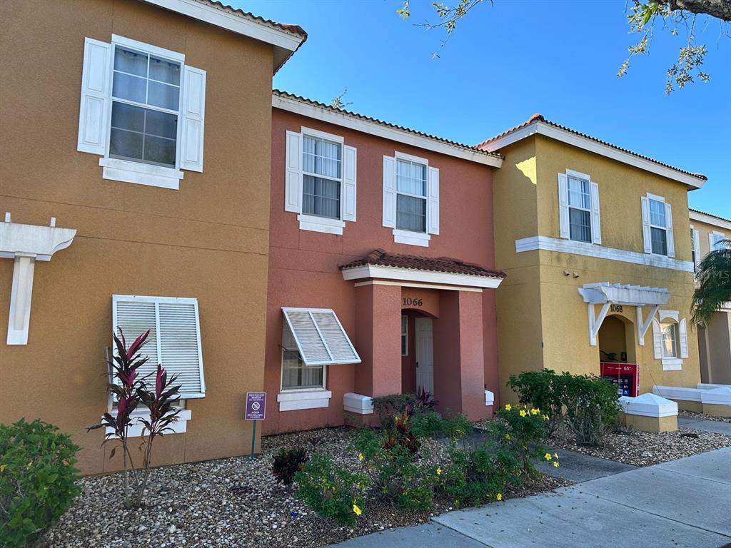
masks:
{"type": "MultiPolygon", "coordinates": [[[[501,386],[549,368],[623,395],[695,387],[698,338],[686,172],[534,115],[479,145],[494,176],[501,386]]],[[[504,399],[512,395],[506,393],[504,399]]]]}

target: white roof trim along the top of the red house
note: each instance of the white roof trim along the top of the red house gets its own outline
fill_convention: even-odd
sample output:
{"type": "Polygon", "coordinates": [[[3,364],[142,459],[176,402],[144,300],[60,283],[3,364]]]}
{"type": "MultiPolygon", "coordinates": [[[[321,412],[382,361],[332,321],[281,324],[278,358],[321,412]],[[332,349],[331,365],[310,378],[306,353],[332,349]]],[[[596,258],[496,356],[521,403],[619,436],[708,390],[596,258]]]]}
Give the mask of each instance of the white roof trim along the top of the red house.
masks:
{"type": "Polygon", "coordinates": [[[322,122],[333,123],[336,126],[354,129],[357,132],[368,133],[376,137],[402,142],[405,145],[411,145],[417,148],[423,148],[425,151],[432,151],[446,156],[454,156],[463,160],[474,161],[477,164],[483,164],[491,167],[501,167],[502,159],[480,151],[469,151],[446,142],[430,139],[421,135],[413,134],[404,129],[396,129],[385,126],[382,123],[363,120],[345,112],[333,112],[327,108],[318,107],[314,104],[292,99],[292,97],[282,97],[276,94],[272,95],[272,107],[281,110],[287,110],[308,118],[314,118],[322,122]]]}

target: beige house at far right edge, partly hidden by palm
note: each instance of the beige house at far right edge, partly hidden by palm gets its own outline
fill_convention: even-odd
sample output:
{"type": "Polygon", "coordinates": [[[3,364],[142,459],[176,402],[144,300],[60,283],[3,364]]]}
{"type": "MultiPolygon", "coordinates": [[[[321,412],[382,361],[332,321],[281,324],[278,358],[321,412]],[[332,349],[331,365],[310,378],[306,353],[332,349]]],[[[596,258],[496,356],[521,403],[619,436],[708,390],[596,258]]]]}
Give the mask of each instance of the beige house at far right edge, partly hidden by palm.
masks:
{"type": "MultiPolygon", "coordinates": [[[[709,251],[731,239],[731,220],[690,210],[693,262],[700,265],[709,251]]],[[[698,328],[700,380],[708,384],[731,384],[731,302],[713,314],[708,325],[698,328]]]]}

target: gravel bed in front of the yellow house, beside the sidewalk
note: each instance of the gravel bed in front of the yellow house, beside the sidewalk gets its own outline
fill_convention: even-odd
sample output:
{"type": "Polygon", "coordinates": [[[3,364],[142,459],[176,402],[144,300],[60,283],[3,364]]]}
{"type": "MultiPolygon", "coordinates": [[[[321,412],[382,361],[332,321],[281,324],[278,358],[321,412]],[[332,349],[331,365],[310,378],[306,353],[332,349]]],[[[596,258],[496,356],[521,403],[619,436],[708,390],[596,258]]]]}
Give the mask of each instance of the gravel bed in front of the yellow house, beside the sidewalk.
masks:
{"type": "Polygon", "coordinates": [[[607,436],[604,446],[588,447],[575,444],[569,433],[560,430],[551,438],[550,444],[561,449],[590,454],[592,457],[616,460],[619,463],[651,466],[731,446],[731,437],[684,428],[663,433],[620,428],[607,436]]]}

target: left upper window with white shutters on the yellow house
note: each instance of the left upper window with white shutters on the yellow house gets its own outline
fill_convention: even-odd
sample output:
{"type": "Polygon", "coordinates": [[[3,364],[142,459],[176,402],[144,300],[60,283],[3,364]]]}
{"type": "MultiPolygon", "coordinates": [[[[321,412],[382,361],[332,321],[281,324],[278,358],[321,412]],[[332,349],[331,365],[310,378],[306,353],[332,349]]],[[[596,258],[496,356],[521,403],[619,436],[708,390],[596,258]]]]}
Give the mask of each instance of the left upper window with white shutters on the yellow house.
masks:
{"type": "Polygon", "coordinates": [[[585,173],[566,170],[558,174],[561,237],[585,243],[602,243],[599,185],[585,173]]]}

